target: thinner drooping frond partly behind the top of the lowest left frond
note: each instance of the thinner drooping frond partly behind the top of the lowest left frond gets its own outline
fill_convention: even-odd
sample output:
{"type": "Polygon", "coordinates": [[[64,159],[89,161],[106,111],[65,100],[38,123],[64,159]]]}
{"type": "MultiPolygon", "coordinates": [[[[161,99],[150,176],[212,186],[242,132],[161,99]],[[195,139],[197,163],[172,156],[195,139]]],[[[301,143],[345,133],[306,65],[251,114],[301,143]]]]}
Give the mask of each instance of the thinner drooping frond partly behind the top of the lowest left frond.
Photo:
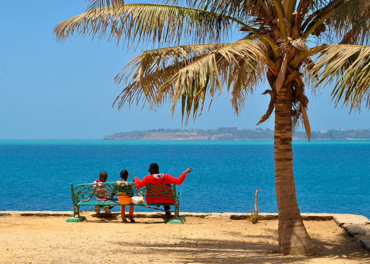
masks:
{"type": "Polygon", "coordinates": [[[125,82],[128,82],[131,76],[132,79],[128,87],[117,96],[114,104],[121,97],[118,104],[119,109],[126,102],[129,105],[133,103],[138,105],[140,100],[144,101],[144,105],[148,104],[150,110],[161,107],[167,101],[167,97],[162,96],[161,100],[158,100],[156,92],[159,87],[179,69],[225,45],[227,44],[197,44],[143,52],[131,60],[116,76],[116,83],[120,83],[124,76],[126,76],[125,82]]]}

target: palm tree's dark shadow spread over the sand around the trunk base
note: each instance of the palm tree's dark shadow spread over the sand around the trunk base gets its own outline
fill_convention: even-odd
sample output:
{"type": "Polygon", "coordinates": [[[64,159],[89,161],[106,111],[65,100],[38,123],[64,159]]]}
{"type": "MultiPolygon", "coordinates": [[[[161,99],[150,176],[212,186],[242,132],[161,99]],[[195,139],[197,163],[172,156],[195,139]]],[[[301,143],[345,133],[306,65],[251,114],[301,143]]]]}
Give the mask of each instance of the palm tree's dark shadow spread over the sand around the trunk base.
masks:
{"type": "MultiPolygon", "coordinates": [[[[307,263],[312,258],[336,259],[340,262],[364,261],[370,257],[370,253],[362,248],[357,242],[350,244],[353,248],[351,253],[343,253],[344,248],[348,248],[348,236],[341,238],[336,243],[327,242],[320,239],[311,239],[316,256],[297,257],[284,256],[278,251],[278,244],[275,235],[245,235],[238,232],[233,235],[235,240],[225,240],[221,236],[219,239],[194,239],[194,238],[170,238],[164,237],[162,241],[150,241],[147,243],[112,242],[135,248],[130,254],[148,254],[160,258],[164,255],[164,262],[184,262],[184,263],[307,263]],[[243,237],[248,241],[243,241],[243,237]],[[250,242],[264,240],[264,243],[250,242]],[[164,242],[168,240],[167,242],[164,242]]],[[[175,235],[177,236],[177,235],[175,235]]],[[[177,236],[178,237],[178,236],[177,236]]],[[[114,252],[112,252],[114,253],[114,252]]],[[[117,252],[116,252],[117,253],[117,252]]],[[[367,260],[366,260],[367,261],[367,260]]]]}

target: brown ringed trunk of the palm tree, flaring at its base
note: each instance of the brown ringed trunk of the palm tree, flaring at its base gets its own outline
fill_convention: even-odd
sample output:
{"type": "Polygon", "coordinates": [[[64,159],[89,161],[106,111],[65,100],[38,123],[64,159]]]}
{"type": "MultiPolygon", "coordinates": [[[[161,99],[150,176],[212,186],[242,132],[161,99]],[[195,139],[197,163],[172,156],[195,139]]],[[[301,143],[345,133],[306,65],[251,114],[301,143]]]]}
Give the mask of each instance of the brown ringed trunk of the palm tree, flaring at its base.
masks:
{"type": "Polygon", "coordinates": [[[279,213],[279,250],[285,255],[312,256],[315,251],[303,224],[295,194],[291,148],[292,100],[282,87],[275,104],[275,191],[279,213]]]}

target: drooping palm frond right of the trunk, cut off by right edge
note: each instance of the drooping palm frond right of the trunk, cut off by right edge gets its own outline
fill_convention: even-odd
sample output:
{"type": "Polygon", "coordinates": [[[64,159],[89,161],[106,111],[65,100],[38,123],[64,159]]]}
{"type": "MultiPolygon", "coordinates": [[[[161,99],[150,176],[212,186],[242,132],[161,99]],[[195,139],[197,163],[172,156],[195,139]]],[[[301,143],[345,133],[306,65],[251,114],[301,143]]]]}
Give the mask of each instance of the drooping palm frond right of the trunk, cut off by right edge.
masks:
{"type": "Polygon", "coordinates": [[[328,45],[313,64],[314,89],[336,81],[331,93],[336,105],[343,101],[350,111],[360,110],[362,102],[370,107],[370,47],[328,45]]]}

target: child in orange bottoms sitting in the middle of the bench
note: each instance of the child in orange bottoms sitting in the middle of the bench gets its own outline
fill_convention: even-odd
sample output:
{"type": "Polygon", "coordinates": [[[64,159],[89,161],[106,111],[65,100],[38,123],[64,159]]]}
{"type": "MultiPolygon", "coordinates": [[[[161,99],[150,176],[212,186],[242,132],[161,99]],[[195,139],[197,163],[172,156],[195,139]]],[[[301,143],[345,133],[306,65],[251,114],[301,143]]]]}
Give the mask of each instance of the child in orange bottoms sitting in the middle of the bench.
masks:
{"type": "MultiPolygon", "coordinates": [[[[121,205],[122,221],[124,223],[126,223],[127,220],[126,220],[126,217],[125,217],[125,210],[126,210],[125,205],[132,204],[132,198],[131,197],[133,196],[133,192],[132,192],[131,183],[127,182],[128,171],[122,170],[121,173],[120,173],[120,177],[121,177],[121,180],[116,182],[117,187],[115,189],[117,190],[118,194],[127,194],[127,196],[118,195],[118,203],[121,205]],[[125,185],[127,185],[127,186],[125,186],[125,185]],[[125,190],[125,192],[123,192],[123,190],[125,190]]],[[[133,215],[134,215],[134,206],[130,205],[130,211],[129,211],[128,219],[130,219],[130,221],[134,223],[135,220],[133,218],[133,215]]]]}

